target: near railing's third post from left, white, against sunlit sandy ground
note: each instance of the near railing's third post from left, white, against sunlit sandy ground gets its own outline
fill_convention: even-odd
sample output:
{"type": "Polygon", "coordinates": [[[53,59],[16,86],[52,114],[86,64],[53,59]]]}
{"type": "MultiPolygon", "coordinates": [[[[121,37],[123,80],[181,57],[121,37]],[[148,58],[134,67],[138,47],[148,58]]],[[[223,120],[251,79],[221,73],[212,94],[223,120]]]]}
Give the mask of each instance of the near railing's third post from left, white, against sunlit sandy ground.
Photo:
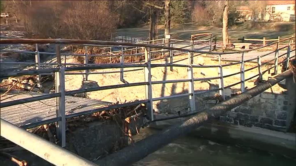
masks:
{"type": "Polygon", "coordinates": [[[189,59],[189,65],[190,67],[187,68],[187,72],[188,72],[188,79],[191,79],[188,82],[188,93],[191,93],[191,95],[189,95],[189,106],[190,106],[190,111],[195,111],[195,95],[194,95],[194,77],[193,77],[193,67],[192,67],[192,63],[191,63],[191,53],[188,52],[188,59],[189,59]]]}

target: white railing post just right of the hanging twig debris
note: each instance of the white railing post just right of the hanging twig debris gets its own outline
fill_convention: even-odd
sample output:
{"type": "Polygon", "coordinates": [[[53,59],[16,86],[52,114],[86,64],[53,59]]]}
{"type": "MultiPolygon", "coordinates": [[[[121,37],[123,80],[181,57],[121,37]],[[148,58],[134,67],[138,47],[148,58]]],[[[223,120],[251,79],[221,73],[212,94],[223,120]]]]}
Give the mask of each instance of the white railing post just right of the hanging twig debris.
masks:
{"type": "Polygon", "coordinates": [[[145,82],[148,83],[145,85],[145,94],[146,94],[146,100],[149,100],[147,103],[147,115],[150,118],[151,121],[154,120],[153,116],[153,103],[152,103],[152,84],[151,84],[151,54],[150,54],[151,48],[149,48],[149,53],[144,47],[144,53],[145,53],[145,63],[146,67],[144,67],[144,73],[145,73],[145,82]]]}

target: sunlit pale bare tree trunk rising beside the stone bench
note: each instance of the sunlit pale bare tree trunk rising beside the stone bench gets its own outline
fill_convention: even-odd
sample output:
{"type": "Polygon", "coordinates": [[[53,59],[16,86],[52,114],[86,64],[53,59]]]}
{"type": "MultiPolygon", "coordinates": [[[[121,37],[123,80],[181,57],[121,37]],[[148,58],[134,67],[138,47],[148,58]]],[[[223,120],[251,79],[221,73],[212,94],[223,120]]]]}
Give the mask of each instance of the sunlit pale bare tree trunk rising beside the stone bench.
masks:
{"type": "Polygon", "coordinates": [[[228,8],[229,8],[229,2],[228,0],[224,1],[224,7],[223,7],[223,49],[225,50],[227,48],[227,44],[229,42],[229,35],[228,35],[228,8]]]}

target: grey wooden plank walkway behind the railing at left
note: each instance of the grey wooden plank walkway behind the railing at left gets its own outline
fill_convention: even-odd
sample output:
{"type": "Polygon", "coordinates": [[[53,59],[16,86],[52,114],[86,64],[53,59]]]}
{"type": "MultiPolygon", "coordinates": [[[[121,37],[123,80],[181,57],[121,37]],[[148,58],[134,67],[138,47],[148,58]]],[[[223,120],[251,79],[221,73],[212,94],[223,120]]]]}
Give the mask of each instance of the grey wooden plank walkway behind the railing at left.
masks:
{"type": "MultiPolygon", "coordinates": [[[[8,102],[12,100],[18,100],[23,98],[35,97],[42,95],[40,93],[25,93],[20,95],[7,95],[1,97],[1,102],[8,102]],[[7,98],[11,97],[11,98],[7,98]],[[5,99],[7,98],[7,99],[5,99]]],[[[65,97],[65,113],[66,115],[83,112],[95,108],[104,107],[110,105],[110,102],[102,102],[99,100],[86,99],[81,97],[65,97]]],[[[5,121],[8,121],[16,126],[25,126],[28,124],[49,120],[56,118],[57,103],[55,98],[28,102],[19,105],[13,105],[5,108],[1,108],[0,117],[5,121]]]]}

